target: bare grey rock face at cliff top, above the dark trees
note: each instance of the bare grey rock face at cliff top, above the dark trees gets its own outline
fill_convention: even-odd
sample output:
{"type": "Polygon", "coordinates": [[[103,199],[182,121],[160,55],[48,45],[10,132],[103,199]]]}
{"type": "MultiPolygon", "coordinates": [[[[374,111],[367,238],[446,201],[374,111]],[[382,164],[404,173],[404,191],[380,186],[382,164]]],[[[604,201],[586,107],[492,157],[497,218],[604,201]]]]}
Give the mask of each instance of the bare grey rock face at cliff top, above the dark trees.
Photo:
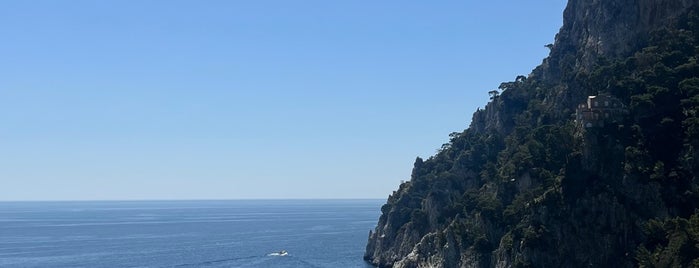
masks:
{"type": "Polygon", "coordinates": [[[565,116],[587,93],[572,83],[575,75],[590,72],[600,59],[624,58],[647,46],[652,32],[696,5],[696,0],[570,0],[551,54],[532,75],[554,89],[546,99],[565,116]]]}

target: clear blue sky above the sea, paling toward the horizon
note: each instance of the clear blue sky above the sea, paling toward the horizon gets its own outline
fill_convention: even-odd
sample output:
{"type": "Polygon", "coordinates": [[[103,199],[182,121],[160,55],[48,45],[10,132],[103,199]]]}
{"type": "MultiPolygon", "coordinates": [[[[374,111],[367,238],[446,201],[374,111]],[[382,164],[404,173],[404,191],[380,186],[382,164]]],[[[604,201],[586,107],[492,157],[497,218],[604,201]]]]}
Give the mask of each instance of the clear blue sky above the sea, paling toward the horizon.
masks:
{"type": "Polygon", "coordinates": [[[0,200],[386,198],[564,5],[2,1],[0,200]]]}

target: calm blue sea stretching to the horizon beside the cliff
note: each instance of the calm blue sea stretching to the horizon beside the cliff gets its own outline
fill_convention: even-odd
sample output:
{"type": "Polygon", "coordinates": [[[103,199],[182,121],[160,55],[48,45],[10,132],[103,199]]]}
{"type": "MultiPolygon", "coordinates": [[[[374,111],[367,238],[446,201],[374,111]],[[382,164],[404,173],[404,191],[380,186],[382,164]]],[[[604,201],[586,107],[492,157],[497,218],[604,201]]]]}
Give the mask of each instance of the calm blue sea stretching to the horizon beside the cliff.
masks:
{"type": "Polygon", "coordinates": [[[0,202],[0,267],[372,267],[384,202],[0,202]]]}

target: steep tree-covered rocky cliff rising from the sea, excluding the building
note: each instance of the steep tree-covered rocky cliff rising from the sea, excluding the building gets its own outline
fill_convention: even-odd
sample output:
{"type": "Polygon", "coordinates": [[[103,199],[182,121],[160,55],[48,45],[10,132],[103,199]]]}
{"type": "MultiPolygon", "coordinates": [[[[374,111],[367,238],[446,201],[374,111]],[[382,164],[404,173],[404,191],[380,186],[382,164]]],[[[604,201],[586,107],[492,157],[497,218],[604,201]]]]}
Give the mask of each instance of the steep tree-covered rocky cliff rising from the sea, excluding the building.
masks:
{"type": "Polygon", "coordinates": [[[682,230],[673,226],[699,230],[698,7],[570,0],[542,65],[503,83],[468,129],[415,161],[411,180],[381,208],[365,259],[381,267],[633,267],[699,257],[668,238],[682,230]],[[580,127],[575,107],[599,93],[629,113],[580,127]]]}

